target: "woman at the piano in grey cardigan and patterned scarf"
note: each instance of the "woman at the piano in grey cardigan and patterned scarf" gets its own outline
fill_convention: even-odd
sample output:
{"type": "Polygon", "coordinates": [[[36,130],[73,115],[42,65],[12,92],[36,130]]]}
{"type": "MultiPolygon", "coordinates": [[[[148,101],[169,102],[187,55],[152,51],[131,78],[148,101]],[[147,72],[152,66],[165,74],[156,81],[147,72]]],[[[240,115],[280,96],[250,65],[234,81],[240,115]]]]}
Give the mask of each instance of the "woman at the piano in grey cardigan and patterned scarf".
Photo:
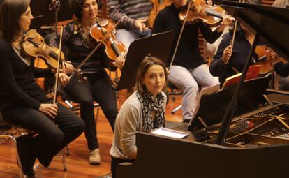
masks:
{"type": "Polygon", "coordinates": [[[135,91],[121,106],[114,128],[112,177],[116,177],[119,163],[133,162],[137,158],[135,133],[150,132],[165,126],[167,71],[165,64],[155,57],[146,57],[138,68],[135,91]]]}

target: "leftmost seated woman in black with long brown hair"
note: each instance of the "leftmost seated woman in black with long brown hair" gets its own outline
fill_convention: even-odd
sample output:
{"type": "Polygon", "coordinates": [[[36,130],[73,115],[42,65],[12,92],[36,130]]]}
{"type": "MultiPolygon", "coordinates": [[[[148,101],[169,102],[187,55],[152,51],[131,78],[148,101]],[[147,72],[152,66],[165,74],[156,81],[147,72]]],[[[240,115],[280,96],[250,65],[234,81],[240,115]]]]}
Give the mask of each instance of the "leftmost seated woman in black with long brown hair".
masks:
{"type": "MultiPolygon", "coordinates": [[[[29,3],[29,0],[1,3],[0,107],[7,123],[38,133],[35,138],[17,140],[24,175],[34,177],[36,158],[48,167],[52,158],[84,131],[85,124],[60,103],[52,104],[36,83],[34,77],[53,76],[51,70],[36,68],[34,59],[21,55],[20,41],[33,19],[29,3]]],[[[64,66],[72,69],[69,64],[64,66]]],[[[61,76],[68,79],[64,73],[61,76]]]]}

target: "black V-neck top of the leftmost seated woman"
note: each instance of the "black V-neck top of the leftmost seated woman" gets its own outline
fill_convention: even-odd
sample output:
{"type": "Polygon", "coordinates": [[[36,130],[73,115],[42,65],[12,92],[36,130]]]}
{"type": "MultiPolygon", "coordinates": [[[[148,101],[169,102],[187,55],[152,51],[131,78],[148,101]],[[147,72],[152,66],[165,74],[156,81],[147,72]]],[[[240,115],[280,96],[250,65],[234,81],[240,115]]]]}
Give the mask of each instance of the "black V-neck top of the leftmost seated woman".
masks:
{"type": "Polygon", "coordinates": [[[34,59],[28,66],[6,40],[0,39],[0,108],[6,112],[15,106],[31,107],[36,110],[47,101],[45,92],[35,77],[52,76],[50,69],[34,67],[34,59]]]}

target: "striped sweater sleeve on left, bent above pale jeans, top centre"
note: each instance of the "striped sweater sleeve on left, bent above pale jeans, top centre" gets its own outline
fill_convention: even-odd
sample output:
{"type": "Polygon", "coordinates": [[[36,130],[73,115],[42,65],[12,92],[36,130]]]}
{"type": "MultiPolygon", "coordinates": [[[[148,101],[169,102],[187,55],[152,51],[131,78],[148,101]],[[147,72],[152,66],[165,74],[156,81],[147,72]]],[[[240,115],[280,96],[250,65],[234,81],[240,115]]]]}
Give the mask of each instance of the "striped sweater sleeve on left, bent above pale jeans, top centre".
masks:
{"type": "Polygon", "coordinates": [[[122,20],[120,22],[122,27],[135,29],[135,20],[124,13],[124,10],[121,9],[121,5],[119,4],[119,0],[108,0],[108,13],[114,22],[122,20]]]}

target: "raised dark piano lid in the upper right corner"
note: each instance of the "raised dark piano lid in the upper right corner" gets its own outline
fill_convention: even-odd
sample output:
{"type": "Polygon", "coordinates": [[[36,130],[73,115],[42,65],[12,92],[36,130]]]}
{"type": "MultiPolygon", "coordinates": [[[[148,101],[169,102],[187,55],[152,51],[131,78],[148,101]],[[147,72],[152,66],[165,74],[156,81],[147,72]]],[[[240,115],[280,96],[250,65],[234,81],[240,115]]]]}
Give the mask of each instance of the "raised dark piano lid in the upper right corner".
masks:
{"type": "Polygon", "coordinates": [[[221,5],[239,22],[260,34],[260,40],[289,60],[289,9],[223,1],[221,5]]]}

